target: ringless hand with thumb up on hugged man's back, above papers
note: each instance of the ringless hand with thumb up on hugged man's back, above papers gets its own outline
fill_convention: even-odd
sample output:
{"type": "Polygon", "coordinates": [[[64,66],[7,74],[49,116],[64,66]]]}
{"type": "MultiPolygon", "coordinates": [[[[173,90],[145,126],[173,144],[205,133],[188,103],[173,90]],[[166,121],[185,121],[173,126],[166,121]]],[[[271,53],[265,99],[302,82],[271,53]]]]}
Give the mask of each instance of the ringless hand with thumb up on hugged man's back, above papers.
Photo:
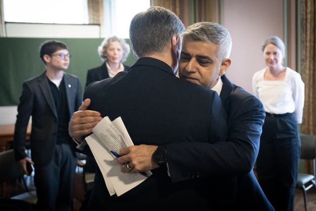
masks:
{"type": "Polygon", "coordinates": [[[90,103],[90,99],[85,99],[69,122],[69,135],[79,143],[84,140],[83,136],[90,134],[92,128],[102,120],[99,112],[87,110],[90,103]]]}

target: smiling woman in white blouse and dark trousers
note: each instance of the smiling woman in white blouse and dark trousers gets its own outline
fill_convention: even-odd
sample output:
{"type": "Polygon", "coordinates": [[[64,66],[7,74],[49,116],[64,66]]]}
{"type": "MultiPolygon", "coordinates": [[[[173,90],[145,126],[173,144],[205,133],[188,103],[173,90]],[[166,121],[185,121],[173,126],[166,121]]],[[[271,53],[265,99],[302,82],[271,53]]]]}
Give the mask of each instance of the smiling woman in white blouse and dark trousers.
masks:
{"type": "Polygon", "coordinates": [[[304,83],[297,72],[283,66],[285,46],[281,39],[268,38],[262,50],[267,67],[252,78],[253,92],[266,110],[256,164],[258,180],[276,211],[293,211],[304,83]]]}

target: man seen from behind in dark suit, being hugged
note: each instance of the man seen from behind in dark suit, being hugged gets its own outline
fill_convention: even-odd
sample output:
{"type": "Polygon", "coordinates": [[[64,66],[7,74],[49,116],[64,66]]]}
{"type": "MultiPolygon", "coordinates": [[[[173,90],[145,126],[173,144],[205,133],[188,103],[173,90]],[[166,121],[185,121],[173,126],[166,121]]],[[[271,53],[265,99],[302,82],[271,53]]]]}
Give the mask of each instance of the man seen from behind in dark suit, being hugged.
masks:
{"type": "Polygon", "coordinates": [[[142,171],[153,172],[122,196],[110,197],[98,169],[87,210],[209,210],[208,164],[216,153],[213,140],[226,139],[226,112],[216,92],[175,76],[184,30],[164,8],[138,13],[130,25],[136,63],[86,88],[89,109],[111,120],[120,116],[136,145],[120,151],[119,159],[129,162],[124,171],[137,172],[141,162],[142,171]]]}

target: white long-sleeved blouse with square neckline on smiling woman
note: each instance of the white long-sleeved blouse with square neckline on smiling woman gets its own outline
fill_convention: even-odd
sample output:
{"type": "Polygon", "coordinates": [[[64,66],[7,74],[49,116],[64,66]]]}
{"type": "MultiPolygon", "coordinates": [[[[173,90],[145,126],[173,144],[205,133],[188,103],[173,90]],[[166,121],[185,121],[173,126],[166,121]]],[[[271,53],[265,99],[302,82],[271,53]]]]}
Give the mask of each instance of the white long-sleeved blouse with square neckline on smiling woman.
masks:
{"type": "Polygon", "coordinates": [[[271,114],[293,113],[298,124],[302,123],[304,107],[304,82],[301,76],[286,67],[283,81],[264,80],[267,68],[256,72],[252,77],[252,89],[266,112],[271,114]]]}

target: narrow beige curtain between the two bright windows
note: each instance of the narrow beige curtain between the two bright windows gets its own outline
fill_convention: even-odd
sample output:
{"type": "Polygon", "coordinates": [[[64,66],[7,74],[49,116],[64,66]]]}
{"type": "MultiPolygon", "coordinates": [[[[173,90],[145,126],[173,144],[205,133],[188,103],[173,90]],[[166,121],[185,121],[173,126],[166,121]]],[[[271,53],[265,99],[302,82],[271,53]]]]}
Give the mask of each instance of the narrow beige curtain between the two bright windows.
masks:
{"type": "Polygon", "coordinates": [[[104,37],[104,9],[103,0],[87,0],[89,24],[100,24],[100,36],[104,37]]]}

